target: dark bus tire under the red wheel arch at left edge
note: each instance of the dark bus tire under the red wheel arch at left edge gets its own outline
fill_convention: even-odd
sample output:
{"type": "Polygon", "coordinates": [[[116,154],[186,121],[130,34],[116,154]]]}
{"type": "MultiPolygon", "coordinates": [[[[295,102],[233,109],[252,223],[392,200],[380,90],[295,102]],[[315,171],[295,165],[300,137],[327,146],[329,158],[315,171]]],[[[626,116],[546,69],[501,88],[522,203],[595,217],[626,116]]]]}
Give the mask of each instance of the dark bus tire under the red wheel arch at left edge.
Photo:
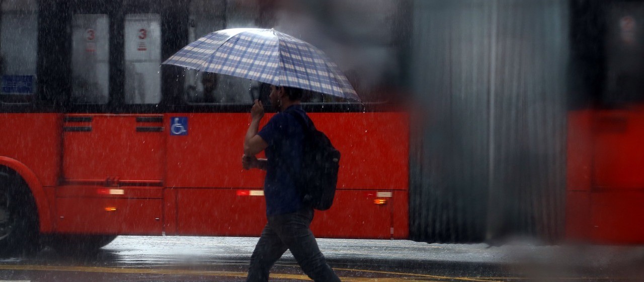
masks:
{"type": "Polygon", "coordinates": [[[35,200],[15,171],[0,167],[0,257],[28,256],[41,248],[35,200]]]}

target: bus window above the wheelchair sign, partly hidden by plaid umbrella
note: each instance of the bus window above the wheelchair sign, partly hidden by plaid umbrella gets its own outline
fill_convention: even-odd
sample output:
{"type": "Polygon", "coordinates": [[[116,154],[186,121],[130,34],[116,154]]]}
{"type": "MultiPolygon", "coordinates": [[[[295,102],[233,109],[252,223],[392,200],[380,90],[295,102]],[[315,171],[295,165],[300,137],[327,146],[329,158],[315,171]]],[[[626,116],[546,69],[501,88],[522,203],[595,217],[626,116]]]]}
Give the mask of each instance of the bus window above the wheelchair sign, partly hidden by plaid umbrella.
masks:
{"type": "MultiPolygon", "coordinates": [[[[227,7],[227,1],[225,0],[191,1],[189,42],[193,42],[208,33],[226,28],[226,20],[234,20],[226,16],[226,11],[230,8],[227,7]]],[[[248,79],[185,70],[185,98],[190,104],[248,104],[252,102],[249,88],[251,88],[251,82],[248,79]]]]}

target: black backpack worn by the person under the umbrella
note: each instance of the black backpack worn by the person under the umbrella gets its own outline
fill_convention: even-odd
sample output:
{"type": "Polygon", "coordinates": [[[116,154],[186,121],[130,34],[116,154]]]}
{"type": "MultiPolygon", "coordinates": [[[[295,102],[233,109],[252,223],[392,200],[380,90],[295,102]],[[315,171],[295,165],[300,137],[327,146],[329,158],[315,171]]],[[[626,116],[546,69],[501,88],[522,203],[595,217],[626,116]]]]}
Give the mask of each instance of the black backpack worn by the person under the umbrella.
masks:
{"type": "Polygon", "coordinates": [[[333,147],[327,135],[318,131],[310,118],[286,111],[298,120],[304,131],[304,152],[299,175],[294,176],[303,202],[314,209],[326,211],[336,194],[337,171],[340,167],[340,152],[333,147]],[[310,126],[308,126],[310,124],[310,126]]]}

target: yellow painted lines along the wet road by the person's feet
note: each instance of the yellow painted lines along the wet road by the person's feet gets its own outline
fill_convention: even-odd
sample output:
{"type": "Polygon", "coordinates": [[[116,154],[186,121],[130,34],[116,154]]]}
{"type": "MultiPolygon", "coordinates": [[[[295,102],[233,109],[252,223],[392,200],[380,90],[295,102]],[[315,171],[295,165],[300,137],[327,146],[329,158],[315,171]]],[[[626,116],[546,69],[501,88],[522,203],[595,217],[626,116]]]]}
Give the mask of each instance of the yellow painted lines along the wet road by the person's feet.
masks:
{"type": "MultiPolygon", "coordinates": [[[[194,275],[194,276],[226,276],[226,277],[246,277],[246,272],[232,272],[232,271],[215,271],[215,270],[173,270],[173,269],[146,269],[146,268],[113,268],[113,267],[64,267],[64,266],[50,266],[50,265],[0,265],[0,270],[46,270],[46,271],[70,271],[70,272],[102,272],[102,273],[120,273],[120,274],[169,274],[169,275],[194,275]]],[[[466,281],[484,281],[490,282],[486,279],[475,279],[469,277],[447,277],[447,276],[432,276],[426,274],[411,274],[403,272],[386,272],[375,270],[360,270],[360,269],[347,269],[347,268],[334,268],[336,270],[348,270],[354,272],[372,272],[379,274],[395,274],[401,276],[414,276],[417,278],[433,278],[433,279],[458,279],[466,281]]],[[[310,280],[308,276],[301,274],[277,274],[271,273],[270,277],[278,279],[299,279],[310,280]]],[[[412,281],[428,281],[413,280],[410,278],[394,278],[394,277],[380,277],[380,278],[366,278],[366,277],[340,277],[342,281],[346,282],[412,282],[412,281]]],[[[431,280],[430,280],[431,281],[431,280]]]]}

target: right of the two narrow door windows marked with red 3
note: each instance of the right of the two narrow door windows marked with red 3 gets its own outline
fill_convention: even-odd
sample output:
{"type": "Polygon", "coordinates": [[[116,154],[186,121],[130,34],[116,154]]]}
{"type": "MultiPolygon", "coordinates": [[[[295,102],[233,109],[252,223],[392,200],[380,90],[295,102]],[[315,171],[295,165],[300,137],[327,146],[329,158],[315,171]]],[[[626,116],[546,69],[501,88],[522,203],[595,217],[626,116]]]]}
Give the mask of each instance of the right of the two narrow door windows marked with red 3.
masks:
{"type": "Polygon", "coordinates": [[[156,104],[161,100],[161,26],[158,14],[125,17],[125,101],[156,104]]]}

